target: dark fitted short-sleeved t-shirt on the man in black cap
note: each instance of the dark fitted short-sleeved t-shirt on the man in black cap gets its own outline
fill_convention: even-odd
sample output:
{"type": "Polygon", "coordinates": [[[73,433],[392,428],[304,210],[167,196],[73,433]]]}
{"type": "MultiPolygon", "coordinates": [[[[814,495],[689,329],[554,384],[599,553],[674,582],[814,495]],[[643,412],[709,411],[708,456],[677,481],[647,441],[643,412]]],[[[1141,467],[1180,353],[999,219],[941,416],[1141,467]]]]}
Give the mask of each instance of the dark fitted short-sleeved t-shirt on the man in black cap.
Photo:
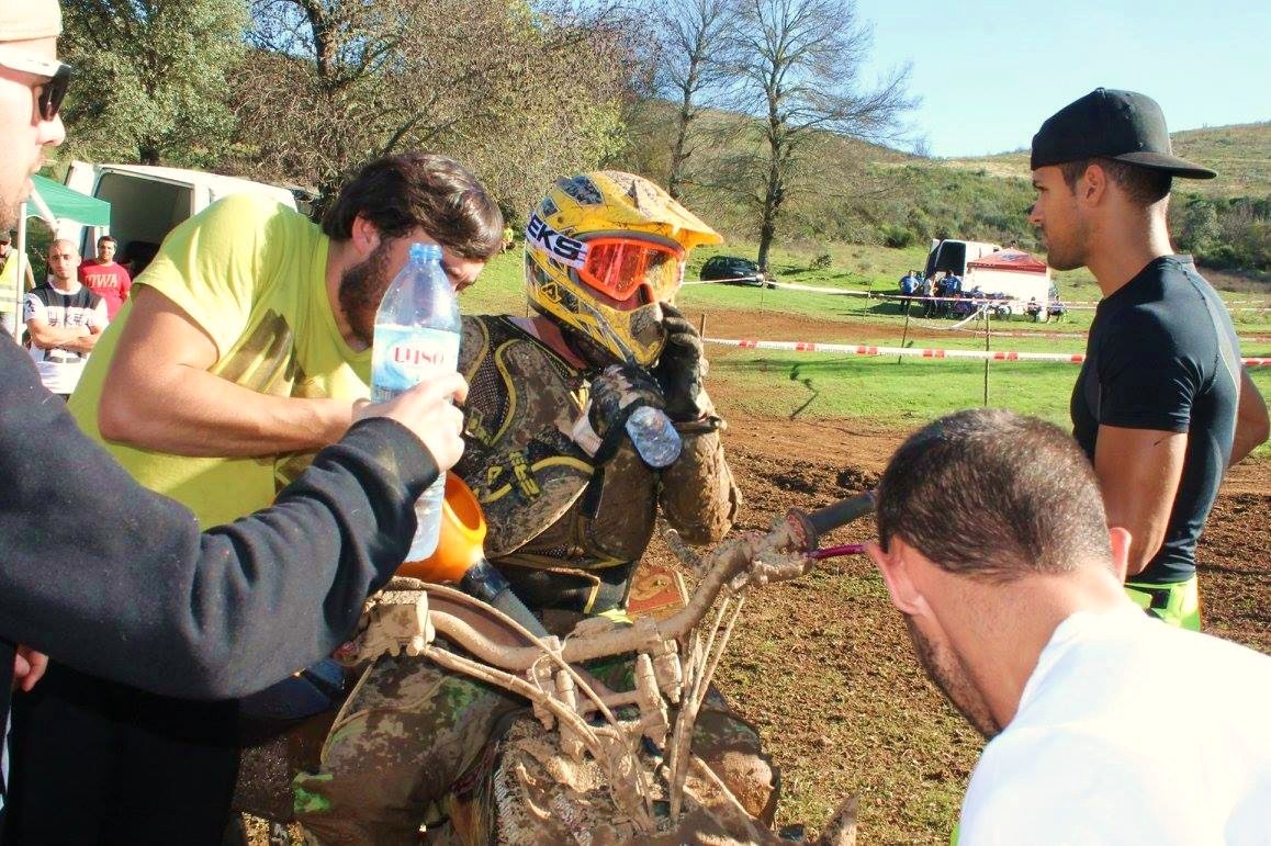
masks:
{"type": "Polygon", "coordinates": [[[1073,391],[1073,437],[1093,461],[1101,424],[1187,433],[1166,537],[1135,582],[1195,575],[1196,540],[1232,456],[1239,385],[1232,319],[1191,257],[1160,257],[1099,302],[1073,391]]]}

